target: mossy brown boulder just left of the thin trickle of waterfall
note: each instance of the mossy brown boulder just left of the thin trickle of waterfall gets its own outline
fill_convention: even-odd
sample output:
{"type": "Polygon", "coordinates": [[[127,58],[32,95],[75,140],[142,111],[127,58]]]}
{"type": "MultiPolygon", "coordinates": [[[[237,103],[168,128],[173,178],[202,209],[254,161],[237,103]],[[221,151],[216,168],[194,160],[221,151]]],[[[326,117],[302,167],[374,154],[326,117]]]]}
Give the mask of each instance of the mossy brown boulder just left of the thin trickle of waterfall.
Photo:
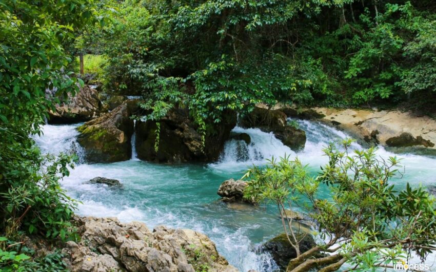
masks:
{"type": "Polygon", "coordinates": [[[114,162],[131,158],[130,138],[133,120],[130,118],[134,101],[125,101],[113,111],[78,127],[78,143],[89,162],[114,162]]]}

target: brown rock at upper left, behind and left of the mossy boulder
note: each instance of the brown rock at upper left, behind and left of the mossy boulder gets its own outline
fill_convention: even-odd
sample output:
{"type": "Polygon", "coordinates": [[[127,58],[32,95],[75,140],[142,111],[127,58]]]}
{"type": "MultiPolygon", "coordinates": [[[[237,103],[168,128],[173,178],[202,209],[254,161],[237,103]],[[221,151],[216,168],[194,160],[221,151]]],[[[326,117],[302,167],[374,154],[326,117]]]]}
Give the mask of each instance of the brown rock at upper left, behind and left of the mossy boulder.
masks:
{"type": "Polygon", "coordinates": [[[91,120],[102,113],[102,103],[98,92],[89,87],[80,88],[75,96],[68,96],[66,101],[55,106],[49,112],[49,123],[77,123],[91,120]]]}

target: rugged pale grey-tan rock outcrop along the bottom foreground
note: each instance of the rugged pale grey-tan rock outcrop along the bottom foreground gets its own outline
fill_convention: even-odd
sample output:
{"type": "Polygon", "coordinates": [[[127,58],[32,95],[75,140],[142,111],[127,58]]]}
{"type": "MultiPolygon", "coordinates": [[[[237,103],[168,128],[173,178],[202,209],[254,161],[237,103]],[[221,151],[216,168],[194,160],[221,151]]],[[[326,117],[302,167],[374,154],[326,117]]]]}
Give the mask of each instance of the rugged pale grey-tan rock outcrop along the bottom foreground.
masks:
{"type": "Polygon", "coordinates": [[[79,219],[81,241],[63,249],[71,271],[237,271],[204,234],[116,218],[79,219]]]}

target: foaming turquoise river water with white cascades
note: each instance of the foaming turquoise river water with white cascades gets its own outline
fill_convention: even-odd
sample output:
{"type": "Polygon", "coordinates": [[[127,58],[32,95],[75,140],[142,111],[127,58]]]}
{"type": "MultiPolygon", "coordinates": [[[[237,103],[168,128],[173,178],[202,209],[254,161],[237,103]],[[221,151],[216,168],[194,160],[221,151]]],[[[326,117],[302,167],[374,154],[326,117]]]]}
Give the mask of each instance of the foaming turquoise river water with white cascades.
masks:
{"type": "MultiPolygon", "coordinates": [[[[219,161],[211,164],[155,164],[134,158],[109,164],[77,165],[62,186],[73,198],[80,200],[78,214],[98,217],[115,216],[121,221],[143,221],[150,228],[159,224],[191,228],[207,234],[220,254],[242,271],[276,268],[271,258],[256,254],[262,242],[281,232],[281,223],[274,207],[252,208],[245,205],[227,206],[219,201],[216,191],[229,178],[240,178],[252,164],[261,165],[271,156],[299,156],[310,164],[313,173],[326,163],[321,149],[329,141],[338,141],[347,135],[327,125],[299,120],[307,133],[304,151],[295,154],[270,133],[258,129],[241,129],[252,142],[230,140],[219,161]],[[87,184],[97,177],[115,178],[122,189],[105,185],[87,184]]],[[[77,125],[46,125],[45,134],[35,138],[44,152],[58,153],[80,147],[75,142],[77,125]]],[[[358,143],[353,148],[361,149],[358,143]]],[[[394,155],[380,148],[379,155],[394,155]]],[[[394,180],[399,186],[406,181],[424,186],[435,184],[436,158],[413,154],[398,154],[406,166],[405,176],[394,180]]],[[[328,192],[323,192],[328,197],[328,192]]]]}

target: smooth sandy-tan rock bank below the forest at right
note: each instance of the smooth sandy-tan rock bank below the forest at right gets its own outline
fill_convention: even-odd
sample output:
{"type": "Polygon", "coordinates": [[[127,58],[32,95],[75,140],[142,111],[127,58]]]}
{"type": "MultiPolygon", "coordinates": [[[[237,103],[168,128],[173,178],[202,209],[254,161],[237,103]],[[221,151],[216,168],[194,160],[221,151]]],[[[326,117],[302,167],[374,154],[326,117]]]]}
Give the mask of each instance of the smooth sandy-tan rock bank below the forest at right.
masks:
{"type": "Polygon", "coordinates": [[[436,149],[436,120],[399,110],[287,109],[288,116],[319,119],[370,144],[436,149]]]}

